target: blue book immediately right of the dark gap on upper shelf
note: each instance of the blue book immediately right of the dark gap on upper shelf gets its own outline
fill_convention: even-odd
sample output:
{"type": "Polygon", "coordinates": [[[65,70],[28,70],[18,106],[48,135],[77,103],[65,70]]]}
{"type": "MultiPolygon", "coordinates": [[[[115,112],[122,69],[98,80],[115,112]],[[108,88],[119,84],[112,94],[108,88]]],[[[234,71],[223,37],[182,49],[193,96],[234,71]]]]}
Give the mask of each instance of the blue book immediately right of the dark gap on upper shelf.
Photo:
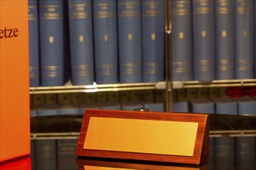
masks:
{"type": "Polygon", "coordinates": [[[68,0],[68,12],[72,84],[92,84],[94,82],[92,2],[68,0]]]}

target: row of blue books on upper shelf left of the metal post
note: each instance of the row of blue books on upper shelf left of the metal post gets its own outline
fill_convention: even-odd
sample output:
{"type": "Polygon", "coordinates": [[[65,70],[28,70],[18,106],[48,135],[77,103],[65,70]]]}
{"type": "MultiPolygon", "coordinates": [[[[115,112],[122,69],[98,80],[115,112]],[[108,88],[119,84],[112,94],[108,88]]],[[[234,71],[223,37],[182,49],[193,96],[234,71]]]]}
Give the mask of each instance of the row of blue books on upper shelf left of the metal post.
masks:
{"type": "Polygon", "coordinates": [[[30,87],[164,80],[164,0],[29,0],[30,87]]]}

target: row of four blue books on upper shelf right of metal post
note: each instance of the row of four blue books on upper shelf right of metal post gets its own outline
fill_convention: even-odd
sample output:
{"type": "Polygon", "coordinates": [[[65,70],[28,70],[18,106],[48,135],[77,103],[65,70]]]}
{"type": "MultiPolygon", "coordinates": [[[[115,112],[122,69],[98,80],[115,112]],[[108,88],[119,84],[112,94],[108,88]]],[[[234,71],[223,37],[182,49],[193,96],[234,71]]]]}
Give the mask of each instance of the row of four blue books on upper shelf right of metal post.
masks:
{"type": "Polygon", "coordinates": [[[254,0],[171,0],[172,80],[256,78],[254,0]]]}

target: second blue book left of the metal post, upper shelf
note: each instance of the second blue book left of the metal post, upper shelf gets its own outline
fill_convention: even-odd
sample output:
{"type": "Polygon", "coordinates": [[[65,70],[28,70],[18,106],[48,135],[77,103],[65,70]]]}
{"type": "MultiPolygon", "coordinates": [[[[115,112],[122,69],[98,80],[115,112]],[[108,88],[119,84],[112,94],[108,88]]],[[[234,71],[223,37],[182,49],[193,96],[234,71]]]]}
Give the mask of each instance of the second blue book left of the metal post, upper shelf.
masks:
{"type": "Polygon", "coordinates": [[[119,0],[119,83],[142,81],[140,0],[119,0]]]}

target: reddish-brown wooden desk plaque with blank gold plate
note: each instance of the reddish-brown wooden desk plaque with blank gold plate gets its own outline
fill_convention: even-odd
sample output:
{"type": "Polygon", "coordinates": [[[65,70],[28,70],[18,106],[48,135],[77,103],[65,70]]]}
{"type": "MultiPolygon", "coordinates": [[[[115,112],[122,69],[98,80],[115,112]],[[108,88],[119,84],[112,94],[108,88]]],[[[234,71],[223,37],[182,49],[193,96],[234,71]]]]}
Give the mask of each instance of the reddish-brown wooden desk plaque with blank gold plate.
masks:
{"type": "Polygon", "coordinates": [[[208,114],[86,110],[76,155],[199,165],[209,156],[208,114]]]}

